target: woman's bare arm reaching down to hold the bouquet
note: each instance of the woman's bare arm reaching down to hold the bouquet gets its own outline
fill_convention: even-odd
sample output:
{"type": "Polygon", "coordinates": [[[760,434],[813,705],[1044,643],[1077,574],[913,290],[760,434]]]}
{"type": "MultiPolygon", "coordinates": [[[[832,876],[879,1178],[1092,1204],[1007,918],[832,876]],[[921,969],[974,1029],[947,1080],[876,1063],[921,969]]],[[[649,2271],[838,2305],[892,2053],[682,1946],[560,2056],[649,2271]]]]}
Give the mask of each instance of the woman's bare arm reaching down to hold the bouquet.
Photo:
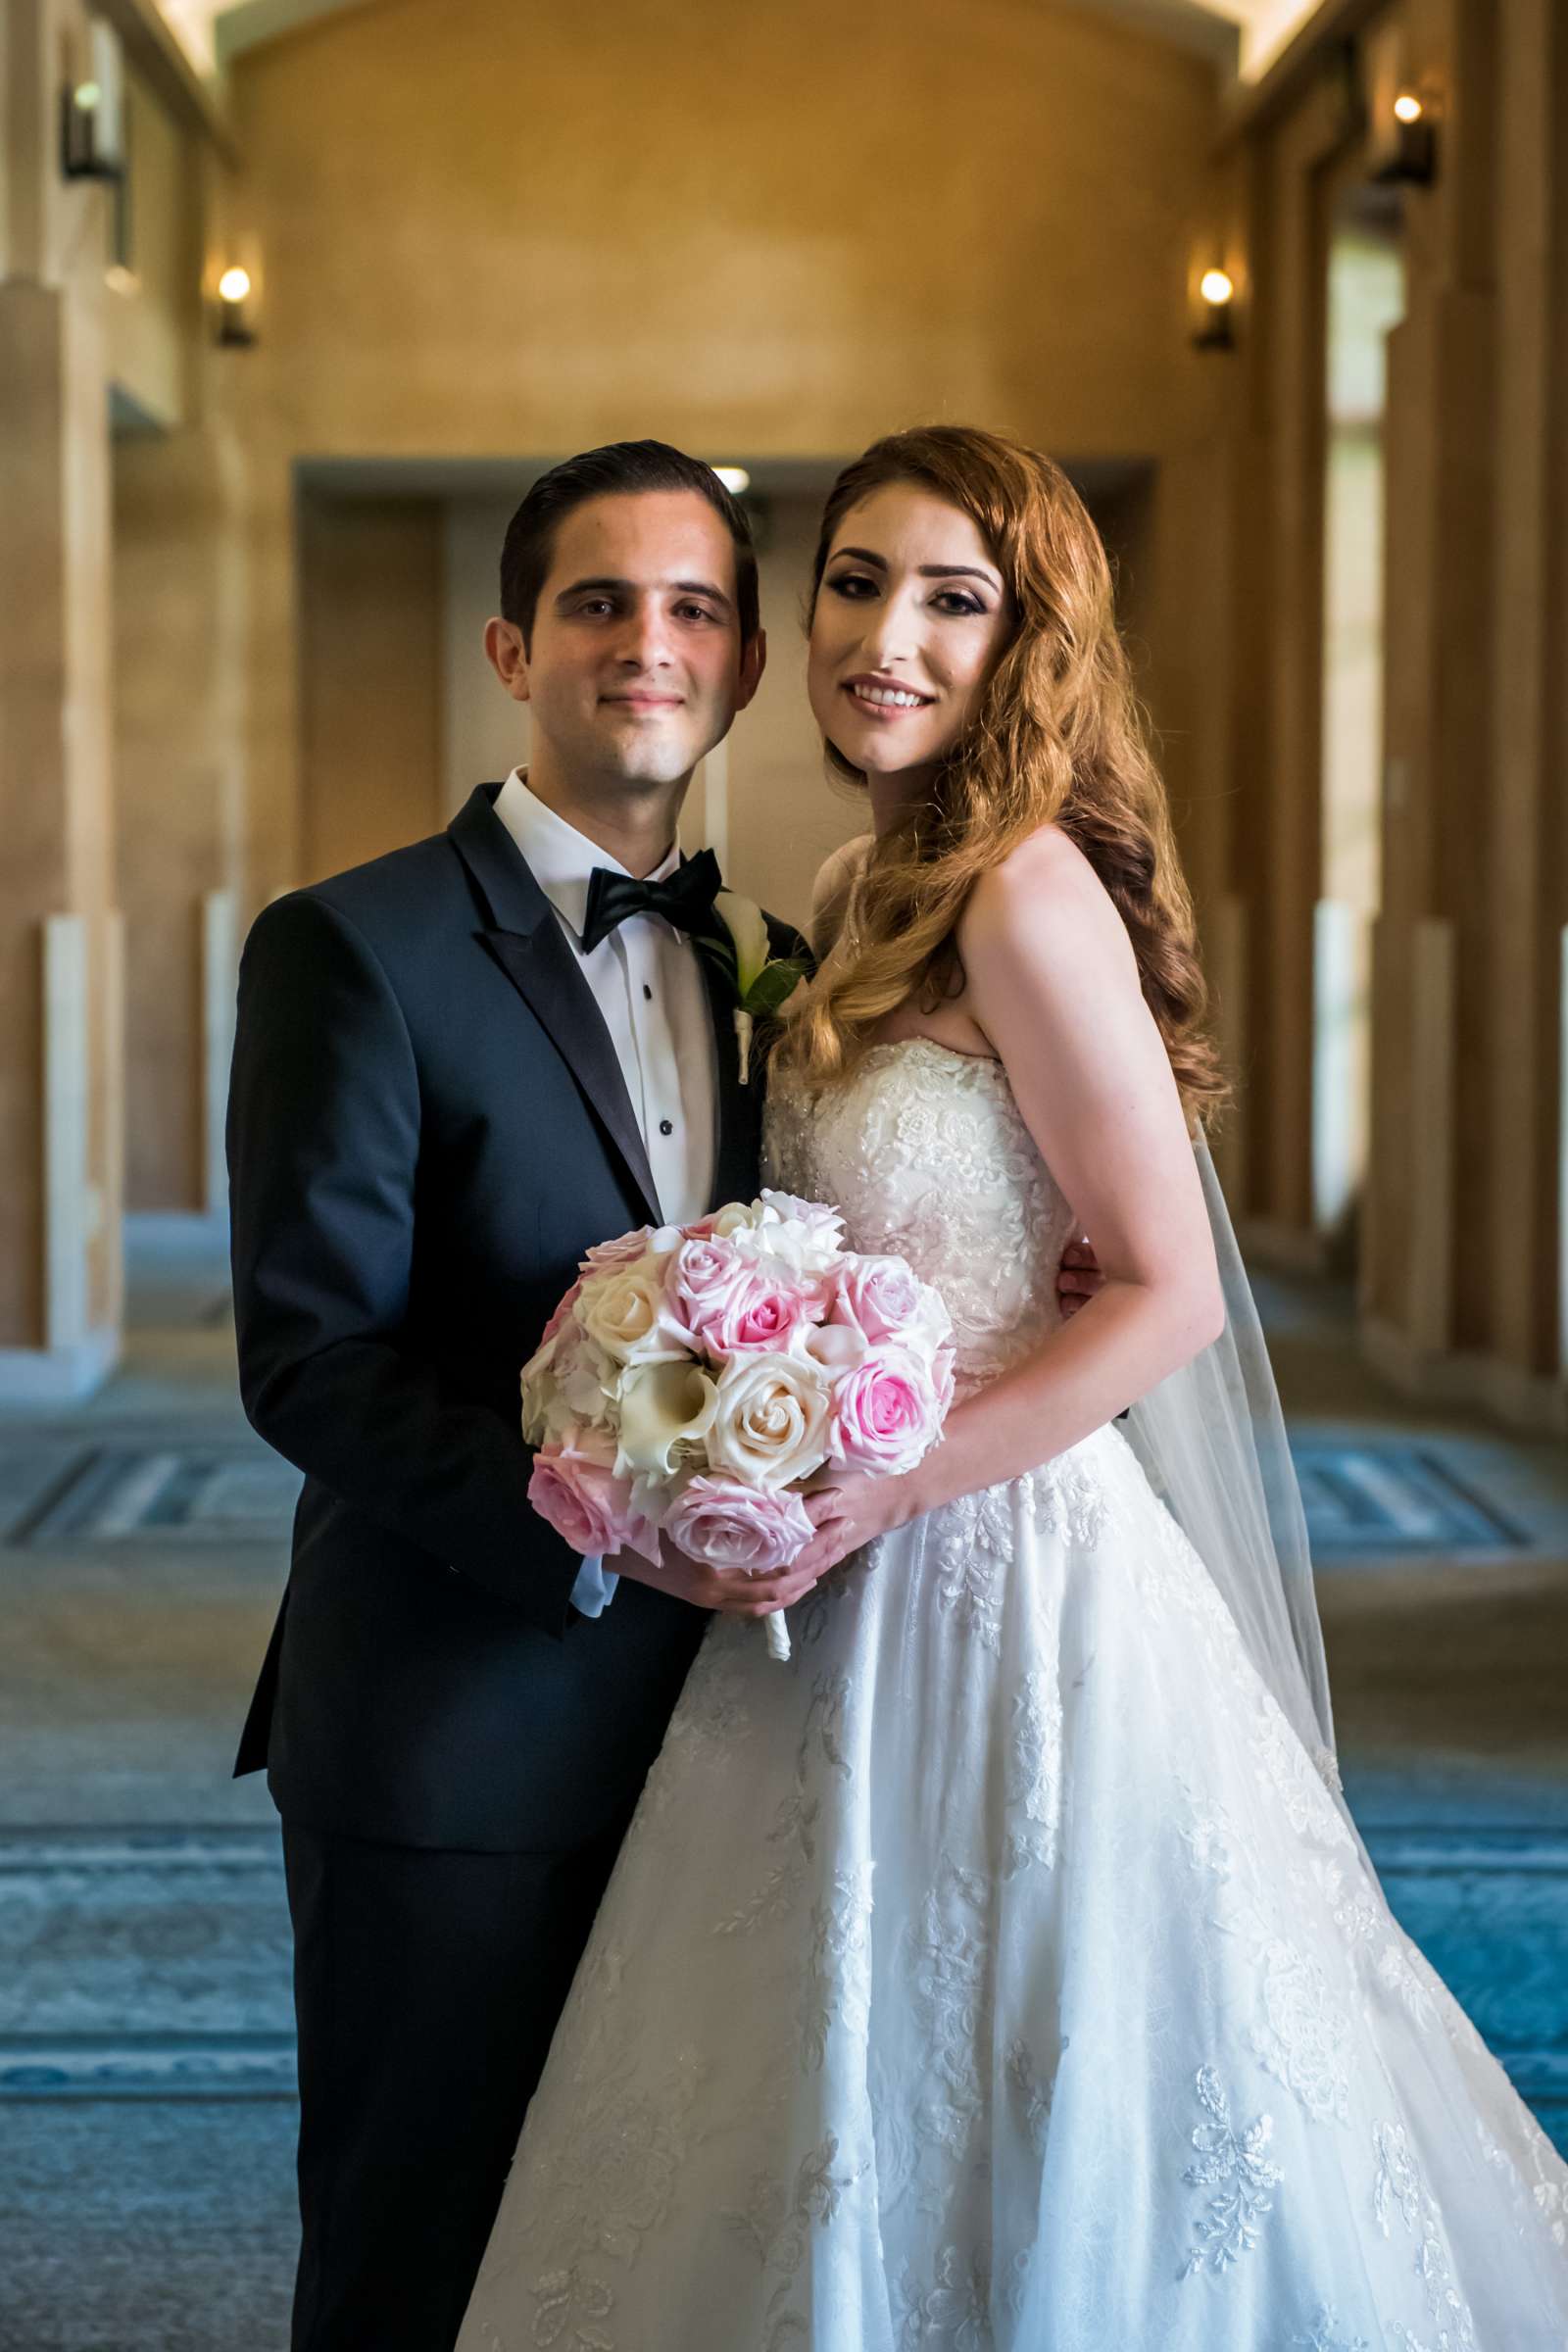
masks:
{"type": "Polygon", "coordinates": [[[811,1496],[827,1552],[820,1566],[1077,1444],[1225,1324],[1171,1063],[1121,917],[1084,854],[1058,830],[1027,840],[978,882],[959,953],[964,1007],[1093,1232],[1105,1284],[1023,1364],[954,1406],[940,1444],[907,1477],[835,1477],[811,1496]]]}

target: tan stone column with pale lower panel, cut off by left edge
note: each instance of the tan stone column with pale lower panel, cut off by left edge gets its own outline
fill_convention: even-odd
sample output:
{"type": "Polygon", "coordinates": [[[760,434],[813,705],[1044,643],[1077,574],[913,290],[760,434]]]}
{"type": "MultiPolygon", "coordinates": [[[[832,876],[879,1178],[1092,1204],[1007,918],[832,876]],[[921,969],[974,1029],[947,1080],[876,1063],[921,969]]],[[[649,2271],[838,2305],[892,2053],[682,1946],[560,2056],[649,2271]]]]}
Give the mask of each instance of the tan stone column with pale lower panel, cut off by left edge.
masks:
{"type": "Polygon", "coordinates": [[[56,160],[80,9],[0,5],[0,1402],[49,1402],[120,1338],[108,198],[56,160]]]}

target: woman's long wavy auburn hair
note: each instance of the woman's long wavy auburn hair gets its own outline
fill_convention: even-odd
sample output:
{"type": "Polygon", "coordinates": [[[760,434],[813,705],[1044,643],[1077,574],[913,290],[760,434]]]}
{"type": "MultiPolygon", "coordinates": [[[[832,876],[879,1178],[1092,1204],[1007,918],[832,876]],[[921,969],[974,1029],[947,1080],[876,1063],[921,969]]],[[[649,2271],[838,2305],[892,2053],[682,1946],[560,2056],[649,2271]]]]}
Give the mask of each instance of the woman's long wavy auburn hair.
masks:
{"type": "MultiPolygon", "coordinates": [[[[893,433],[827,494],[811,619],[839,522],[889,482],[917,482],[976,522],[1016,626],[929,802],[875,847],[853,891],[846,953],[790,1000],[778,1063],[809,1082],[835,1077],[907,997],[933,1011],[954,995],[954,931],[976,882],[1041,826],[1060,826],[1126,924],[1187,1122],[1211,1120],[1227,1084],[1204,1025],[1192,896],[1117,633],[1110,562],[1084,501],[1060,466],[999,433],[893,433]]],[[[832,743],[827,760],[865,783],[832,743]]]]}

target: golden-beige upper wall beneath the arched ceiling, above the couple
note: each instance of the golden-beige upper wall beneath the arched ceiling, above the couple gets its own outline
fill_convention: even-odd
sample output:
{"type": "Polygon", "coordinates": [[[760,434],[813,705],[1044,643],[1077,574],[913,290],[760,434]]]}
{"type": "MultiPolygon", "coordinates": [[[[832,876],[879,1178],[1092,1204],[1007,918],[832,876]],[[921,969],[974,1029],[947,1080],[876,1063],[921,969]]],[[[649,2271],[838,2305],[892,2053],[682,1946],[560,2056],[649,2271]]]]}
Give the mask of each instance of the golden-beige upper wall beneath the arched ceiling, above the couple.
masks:
{"type": "Polygon", "coordinates": [[[299,449],[820,454],[976,414],[1095,454],[1192,428],[1213,80],[1114,21],[386,0],[244,56],[235,120],[299,449]]]}

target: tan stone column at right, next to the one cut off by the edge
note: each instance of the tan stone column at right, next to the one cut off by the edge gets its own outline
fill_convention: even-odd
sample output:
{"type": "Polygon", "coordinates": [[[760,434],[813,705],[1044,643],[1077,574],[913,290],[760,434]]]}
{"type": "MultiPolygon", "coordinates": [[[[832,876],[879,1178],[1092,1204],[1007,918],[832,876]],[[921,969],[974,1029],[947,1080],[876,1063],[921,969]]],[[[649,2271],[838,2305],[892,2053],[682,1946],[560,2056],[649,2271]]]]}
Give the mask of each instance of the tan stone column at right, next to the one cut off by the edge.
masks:
{"type": "Polygon", "coordinates": [[[1403,71],[1443,92],[1439,179],[1406,200],[1389,336],[1387,783],[1375,936],[1368,1355],[1406,1385],[1486,1355],[1486,983],[1497,875],[1495,0],[1408,0],[1403,71]]]}

